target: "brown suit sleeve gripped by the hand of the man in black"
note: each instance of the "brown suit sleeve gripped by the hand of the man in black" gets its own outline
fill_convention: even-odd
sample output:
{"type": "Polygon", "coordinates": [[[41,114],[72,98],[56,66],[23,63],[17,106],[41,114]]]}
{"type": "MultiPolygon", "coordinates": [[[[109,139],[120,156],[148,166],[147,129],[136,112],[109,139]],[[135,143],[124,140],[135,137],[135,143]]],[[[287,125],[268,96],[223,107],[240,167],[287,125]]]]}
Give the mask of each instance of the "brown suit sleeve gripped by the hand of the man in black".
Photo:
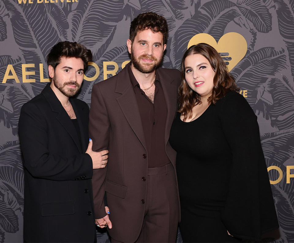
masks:
{"type": "MultiPolygon", "coordinates": [[[[93,151],[101,151],[108,149],[110,122],[108,119],[107,109],[104,103],[102,93],[96,84],[92,89],[91,109],[89,115],[89,135],[93,140],[93,151]]],[[[93,170],[92,185],[95,218],[103,218],[104,208],[104,180],[106,176],[107,166],[103,169],[93,170]]]]}

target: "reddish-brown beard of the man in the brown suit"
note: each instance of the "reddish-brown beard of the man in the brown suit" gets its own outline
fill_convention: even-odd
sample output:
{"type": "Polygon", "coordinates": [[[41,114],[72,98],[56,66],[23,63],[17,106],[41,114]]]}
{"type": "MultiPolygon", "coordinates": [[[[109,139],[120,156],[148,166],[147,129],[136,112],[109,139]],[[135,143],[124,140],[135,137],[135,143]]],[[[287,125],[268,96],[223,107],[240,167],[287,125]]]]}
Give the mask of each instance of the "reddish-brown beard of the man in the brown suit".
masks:
{"type": "Polygon", "coordinates": [[[153,72],[156,68],[159,68],[162,62],[162,57],[163,57],[163,53],[162,56],[160,57],[160,59],[158,60],[156,57],[144,54],[141,55],[139,57],[135,57],[134,55],[134,51],[133,48],[131,48],[131,61],[132,64],[134,65],[134,68],[136,68],[139,72],[142,73],[151,73],[153,72]],[[150,59],[153,60],[153,63],[145,63],[145,64],[141,64],[140,60],[141,59],[150,59]]]}

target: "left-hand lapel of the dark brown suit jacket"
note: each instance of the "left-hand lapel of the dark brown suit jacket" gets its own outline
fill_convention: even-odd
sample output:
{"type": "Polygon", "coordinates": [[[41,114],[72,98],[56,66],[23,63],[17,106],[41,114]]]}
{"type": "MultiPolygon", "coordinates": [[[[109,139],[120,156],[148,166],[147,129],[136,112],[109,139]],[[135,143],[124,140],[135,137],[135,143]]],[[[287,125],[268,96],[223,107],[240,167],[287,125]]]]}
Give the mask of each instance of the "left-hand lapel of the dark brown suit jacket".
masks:
{"type": "Polygon", "coordinates": [[[140,140],[141,144],[146,147],[144,131],[142,127],[141,116],[139,112],[139,107],[137,104],[137,99],[135,97],[134,88],[131,85],[130,77],[128,74],[127,66],[117,74],[118,80],[115,92],[122,94],[117,98],[120,108],[130,127],[136,134],[137,138],[140,140]]]}

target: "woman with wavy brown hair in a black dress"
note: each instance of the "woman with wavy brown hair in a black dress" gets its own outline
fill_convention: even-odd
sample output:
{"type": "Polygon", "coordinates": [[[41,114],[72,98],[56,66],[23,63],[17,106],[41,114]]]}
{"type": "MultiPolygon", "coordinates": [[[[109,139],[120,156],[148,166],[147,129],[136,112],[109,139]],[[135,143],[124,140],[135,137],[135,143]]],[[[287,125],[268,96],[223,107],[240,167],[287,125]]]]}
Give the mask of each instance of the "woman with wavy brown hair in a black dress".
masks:
{"type": "Polygon", "coordinates": [[[184,54],[177,151],[184,242],[260,241],[278,228],[257,117],[208,44],[184,54]]]}

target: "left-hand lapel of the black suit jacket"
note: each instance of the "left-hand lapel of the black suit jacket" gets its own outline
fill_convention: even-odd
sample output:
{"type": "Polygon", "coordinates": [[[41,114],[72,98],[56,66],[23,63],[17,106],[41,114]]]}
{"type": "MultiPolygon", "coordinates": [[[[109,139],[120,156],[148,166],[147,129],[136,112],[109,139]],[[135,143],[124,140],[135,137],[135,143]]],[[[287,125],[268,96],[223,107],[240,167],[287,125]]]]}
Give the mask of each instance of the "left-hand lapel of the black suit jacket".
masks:
{"type": "Polygon", "coordinates": [[[70,117],[67,115],[66,111],[63,109],[60,101],[54,94],[53,90],[50,88],[50,83],[48,83],[47,86],[44,88],[44,90],[42,91],[42,94],[45,96],[45,98],[49,102],[49,105],[51,106],[52,111],[56,113],[56,119],[60,122],[62,127],[68,132],[70,137],[74,140],[74,143],[77,145],[77,149],[79,150],[79,152],[82,153],[81,143],[78,138],[77,131],[74,127],[74,124],[70,120],[70,117]]]}

